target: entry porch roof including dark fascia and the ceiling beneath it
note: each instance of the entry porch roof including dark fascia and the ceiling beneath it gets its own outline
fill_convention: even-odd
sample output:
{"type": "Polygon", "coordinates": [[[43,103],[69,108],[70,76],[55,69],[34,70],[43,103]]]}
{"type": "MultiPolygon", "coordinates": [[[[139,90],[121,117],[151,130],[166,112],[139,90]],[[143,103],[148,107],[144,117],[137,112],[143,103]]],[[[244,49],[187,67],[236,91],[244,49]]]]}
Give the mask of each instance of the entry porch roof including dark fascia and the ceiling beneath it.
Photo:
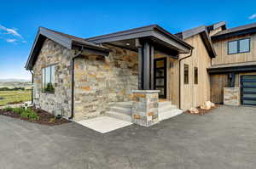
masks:
{"type": "Polygon", "coordinates": [[[159,25],[148,25],[128,31],[119,31],[99,37],[91,37],[86,39],[86,41],[109,43],[121,48],[129,48],[137,51],[136,39],[152,42],[156,47],[165,48],[166,50],[175,51],[180,54],[188,54],[190,49],[193,48],[159,25]]]}

